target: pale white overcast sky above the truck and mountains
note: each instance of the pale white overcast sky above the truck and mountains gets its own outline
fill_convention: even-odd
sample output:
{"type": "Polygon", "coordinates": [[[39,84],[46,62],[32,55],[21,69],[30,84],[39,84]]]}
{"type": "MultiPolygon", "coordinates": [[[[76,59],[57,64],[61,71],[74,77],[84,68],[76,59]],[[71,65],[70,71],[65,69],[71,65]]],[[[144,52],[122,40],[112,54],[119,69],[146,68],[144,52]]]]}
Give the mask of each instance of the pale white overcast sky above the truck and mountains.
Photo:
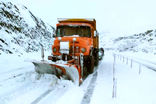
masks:
{"type": "Polygon", "coordinates": [[[100,32],[129,35],[156,29],[156,0],[19,0],[55,26],[57,18],[95,18],[100,32]]]}

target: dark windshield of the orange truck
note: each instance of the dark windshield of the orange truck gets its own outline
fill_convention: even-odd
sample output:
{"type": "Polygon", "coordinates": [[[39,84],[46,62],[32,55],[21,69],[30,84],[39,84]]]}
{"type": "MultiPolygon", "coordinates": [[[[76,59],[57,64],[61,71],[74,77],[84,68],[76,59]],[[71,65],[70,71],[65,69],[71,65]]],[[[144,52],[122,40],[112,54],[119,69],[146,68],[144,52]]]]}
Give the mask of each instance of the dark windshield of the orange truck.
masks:
{"type": "Polygon", "coordinates": [[[91,29],[88,26],[59,26],[56,30],[56,36],[72,36],[91,37],[91,29]]]}

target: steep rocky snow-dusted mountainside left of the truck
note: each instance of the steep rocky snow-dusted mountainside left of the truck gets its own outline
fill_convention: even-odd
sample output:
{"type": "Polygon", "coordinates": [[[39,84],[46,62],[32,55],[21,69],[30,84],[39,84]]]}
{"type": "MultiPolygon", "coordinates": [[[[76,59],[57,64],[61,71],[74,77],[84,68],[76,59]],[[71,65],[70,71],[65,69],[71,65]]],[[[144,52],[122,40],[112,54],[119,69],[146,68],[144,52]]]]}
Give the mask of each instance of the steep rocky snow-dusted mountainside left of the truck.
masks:
{"type": "Polygon", "coordinates": [[[54,28],[37,18],[27,7],[0,1],[0,54],[50,48],[54,28]]]}

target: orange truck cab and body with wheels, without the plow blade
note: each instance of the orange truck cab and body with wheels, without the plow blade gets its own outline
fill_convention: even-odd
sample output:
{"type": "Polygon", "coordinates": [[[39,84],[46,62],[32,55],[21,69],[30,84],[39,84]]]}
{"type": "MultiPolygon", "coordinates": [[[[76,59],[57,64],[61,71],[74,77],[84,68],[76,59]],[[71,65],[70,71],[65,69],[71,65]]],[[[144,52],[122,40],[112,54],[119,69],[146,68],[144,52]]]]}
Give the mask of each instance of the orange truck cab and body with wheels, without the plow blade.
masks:
{"type": "Polygon", "coordinates": [[[83,73],[88,75],[93,72],[94,65],[99,61],[99,36],[95,19],[58,19],[54,38],[49,60],[78,60],[79,64],[81,56],[83,73]]]}

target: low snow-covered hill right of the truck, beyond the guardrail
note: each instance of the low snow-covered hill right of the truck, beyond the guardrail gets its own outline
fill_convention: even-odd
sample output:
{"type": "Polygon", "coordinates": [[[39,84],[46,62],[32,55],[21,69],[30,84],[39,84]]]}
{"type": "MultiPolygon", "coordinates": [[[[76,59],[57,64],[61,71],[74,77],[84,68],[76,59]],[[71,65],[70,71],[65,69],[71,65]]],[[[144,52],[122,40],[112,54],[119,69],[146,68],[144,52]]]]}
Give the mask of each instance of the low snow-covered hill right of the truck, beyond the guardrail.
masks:
{"type": "Polygon", "coordinates": [[[145,52],[156,54],[156,30],[147,30],[144,33],[118,38],[108,38],[103,36],[103,47],[106,50],[116,50],[119,52],[145,52]]]}

